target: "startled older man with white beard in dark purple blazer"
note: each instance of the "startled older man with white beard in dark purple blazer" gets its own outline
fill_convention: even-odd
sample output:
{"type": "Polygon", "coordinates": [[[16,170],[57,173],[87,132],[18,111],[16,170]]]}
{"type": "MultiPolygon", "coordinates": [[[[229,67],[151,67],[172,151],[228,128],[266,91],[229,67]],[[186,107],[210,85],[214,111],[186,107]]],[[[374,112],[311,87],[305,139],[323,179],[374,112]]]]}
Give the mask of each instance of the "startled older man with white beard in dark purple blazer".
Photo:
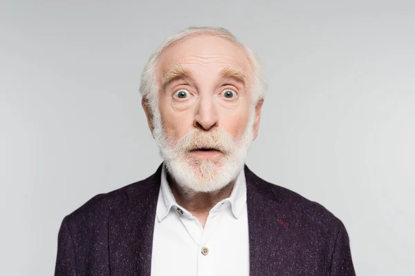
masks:
{"type": "Polygon", "coordinates": [[[163,164],[64,218],[55,275],[355,275],[339,219],[244,165],[265,88],[228,30],[167,39],[140,86],[163,164]]]}

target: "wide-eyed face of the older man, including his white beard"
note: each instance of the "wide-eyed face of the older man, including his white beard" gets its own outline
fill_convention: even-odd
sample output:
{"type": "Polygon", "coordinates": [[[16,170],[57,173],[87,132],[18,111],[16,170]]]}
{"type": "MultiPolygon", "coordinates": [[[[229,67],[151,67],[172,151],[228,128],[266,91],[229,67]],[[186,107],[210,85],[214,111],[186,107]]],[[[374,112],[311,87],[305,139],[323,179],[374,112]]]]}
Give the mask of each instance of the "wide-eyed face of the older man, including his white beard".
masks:
{"type": "Polygon", "coordinates": [[[190,190],[222,188],[257,136],[261,106],[252,108],[246,53],[228,39],[191,37],[163,52],[157,80],[160,121],[150,124],[163,128],[156,140],[167,169],[190,190]]]}

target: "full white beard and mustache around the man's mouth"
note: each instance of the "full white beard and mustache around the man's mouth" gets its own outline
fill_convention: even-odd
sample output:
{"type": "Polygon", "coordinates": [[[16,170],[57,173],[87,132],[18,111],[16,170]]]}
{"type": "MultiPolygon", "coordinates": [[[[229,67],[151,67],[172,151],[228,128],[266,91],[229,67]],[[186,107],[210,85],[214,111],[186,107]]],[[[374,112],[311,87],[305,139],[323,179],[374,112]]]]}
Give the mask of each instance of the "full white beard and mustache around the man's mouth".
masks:
{"type": "Polygon", "coordinates": [[[246,154],[253,139],[255,110],[252,108],[248,124],[243,133],[234,141],[224,130],[201,130],[194,128],[177,142],[170,141],[166,134],[160,113],[153,112],[153,135],[160,155],[165,161],[169,174],[183,188],[185,193],[211,193],[221,190],[243,169],[246,154]],[[195,148],[215,148],[221,151],[220,157],[192,158],[190,150],[195,148]]]}

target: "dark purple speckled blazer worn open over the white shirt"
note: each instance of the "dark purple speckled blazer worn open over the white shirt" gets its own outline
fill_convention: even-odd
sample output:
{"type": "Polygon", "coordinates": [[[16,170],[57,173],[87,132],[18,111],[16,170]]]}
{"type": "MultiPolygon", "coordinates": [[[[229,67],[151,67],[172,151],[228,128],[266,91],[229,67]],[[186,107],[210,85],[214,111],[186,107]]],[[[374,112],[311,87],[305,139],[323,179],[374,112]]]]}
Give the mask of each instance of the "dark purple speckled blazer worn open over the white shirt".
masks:
{"type": "MultiPolygon", "coordinates": [[[[66,216],[55,276],[150,276],[160,175],[161,166],[151,177],[97,195],[66,216]]],[[[349,237],[338,218],[247,166],[245,175],[251,276],[355,275],[349,237]]]]}

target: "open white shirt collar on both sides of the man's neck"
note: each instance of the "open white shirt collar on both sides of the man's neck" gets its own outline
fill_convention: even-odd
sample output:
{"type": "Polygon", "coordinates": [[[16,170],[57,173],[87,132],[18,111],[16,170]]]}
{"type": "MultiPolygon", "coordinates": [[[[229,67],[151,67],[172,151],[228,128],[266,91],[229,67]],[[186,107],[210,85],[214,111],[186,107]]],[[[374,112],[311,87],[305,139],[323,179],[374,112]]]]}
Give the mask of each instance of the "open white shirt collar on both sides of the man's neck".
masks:
{"type": "MultiPolygon", "coordinates": [[[[176,199],[174,199],[174,195],[172,190],[170,189],[169,183],[167,182],[167,172],[165,165],[163,164],[163,168],[161,170],[161,182],[160,182],[160,193],[158,195],[158,206],[156,211],[156,217],[158,221],[162,221],[167,215],[169,214],[170,209],[172,207],[181,208],[185,214],[188,213],[187,210],[180,207],[176,203],[176,199]]],[[[219,206],[222,203],[229,202],[230,207],[232,209],[232,214],[236,219],[241,216],[243,207],[246,204],[246,179],[245,179],[245,172],[243,168],[237,175],[237,179],[235,181],[234,187],[232,188],[232,192],[230,196],[226,199],[220,201],[216,206],[219,206]]],[[[216,208],[214,206],[214,208],[216,208]]],[[[212,209],[214,209],[212,208],[212,209]]],[[[190,215],[190,214],[187,214],[190,215]]]]}

